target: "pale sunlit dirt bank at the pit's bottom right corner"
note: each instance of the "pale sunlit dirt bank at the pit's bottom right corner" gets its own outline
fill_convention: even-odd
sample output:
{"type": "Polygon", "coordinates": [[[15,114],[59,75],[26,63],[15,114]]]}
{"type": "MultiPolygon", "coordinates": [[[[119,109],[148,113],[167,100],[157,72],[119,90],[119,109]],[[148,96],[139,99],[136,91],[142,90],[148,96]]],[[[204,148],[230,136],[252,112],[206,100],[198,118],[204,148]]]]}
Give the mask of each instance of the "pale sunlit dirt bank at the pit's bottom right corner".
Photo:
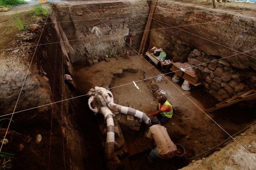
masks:
{"type": "Polygon", "coordinates": [[[182,170],[197,169],[255,169],[255,130],[256,126],[251,126],[245,133],[235,137],[235,141],[215,152],[208,158],[192,161],[190,165],[182,170]],[[242,148],[239,144],[242,144],[242,148]]]}

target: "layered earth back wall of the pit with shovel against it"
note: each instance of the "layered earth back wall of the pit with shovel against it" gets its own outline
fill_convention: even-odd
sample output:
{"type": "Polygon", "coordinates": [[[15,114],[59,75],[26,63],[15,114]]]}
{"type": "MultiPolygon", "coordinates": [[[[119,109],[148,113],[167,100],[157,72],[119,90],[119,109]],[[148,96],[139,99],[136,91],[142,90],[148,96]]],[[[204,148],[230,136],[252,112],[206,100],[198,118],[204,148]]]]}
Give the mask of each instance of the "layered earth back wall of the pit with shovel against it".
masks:
{"type": "Polygon", "coordinates": [[[97,5],[56,5],[54,12],[68,40],[71,41],[75,56],[72,62],[86,60],[94,56],[122,53],[133,36],[133,48],[138,48],[145,27],[149,7],[138,7],[139,3],[117,2],[97,5]],[[118,9],[117,9],[118,8],[118,9]],[[133,8],[130,10],[130,8],[133,8]],[[70,12],[75,11],[75,12],[70,12]],[[62,21],[70,22],[62,22],[62,21]],[[103,22],[103,23],[102,23],[103,22]],[[116,34],[115,34],[115,33],[116,34]]]}

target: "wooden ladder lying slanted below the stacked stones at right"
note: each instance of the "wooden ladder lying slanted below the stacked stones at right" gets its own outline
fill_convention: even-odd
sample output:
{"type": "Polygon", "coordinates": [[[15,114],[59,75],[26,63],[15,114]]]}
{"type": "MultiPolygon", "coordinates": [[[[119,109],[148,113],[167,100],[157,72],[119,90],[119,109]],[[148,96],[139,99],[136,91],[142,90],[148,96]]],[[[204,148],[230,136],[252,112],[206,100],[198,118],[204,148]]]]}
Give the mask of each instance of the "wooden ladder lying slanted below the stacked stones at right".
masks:
{"type": "Polygon", "coordinates": [[[255,93],[255,90],[251,90],[241,96],[234,96],[232,99],[229,99],[229,100],[224,100],[223,102],[219,103],[219,104],[216,104],[213,108],[210,108],[210,109],[207,109],[205,110],[206,113],[209,113],[209,112],[212,112],[214,110],[218,110],[220,108],[224,108],[224,107],[227,107],[227,106],[230,106],[234,103],[238,103],[238,102],[241,102],[241,101],[248,101],[248,100],[251,100],[251,99],[255,99],[256,98],[256,93],[255,93]]]}

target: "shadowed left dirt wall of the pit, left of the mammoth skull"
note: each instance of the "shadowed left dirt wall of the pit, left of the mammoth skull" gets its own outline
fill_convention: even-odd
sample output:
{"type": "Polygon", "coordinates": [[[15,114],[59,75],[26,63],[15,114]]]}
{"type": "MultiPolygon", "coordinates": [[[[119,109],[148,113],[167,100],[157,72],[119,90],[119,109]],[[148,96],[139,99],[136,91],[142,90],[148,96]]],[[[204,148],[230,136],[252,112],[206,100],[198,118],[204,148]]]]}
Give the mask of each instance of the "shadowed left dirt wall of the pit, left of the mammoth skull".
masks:
{"type": "MultiPolygon", "coordinates": [[[[61,36],[57,35],[53,28],[54,24],[46,25],[40,44],[63,41],[58,38],[61,36]]],[[[29,35],[32,40],[36,40],[41,34],[38,31],[31,36],[27,32],[29,31],[21,33],[19,37],[26,39],[27,35],[29,35]]],[[[18,40],[15,45],[18,46],[20,45],[19,43],[20,41],[18,40]]],[[[23,45],[29,46],[31,44],[24,41],[23,45]]],[[[1,68],[3,68],[0,78],[1,116],[13,113],[19,97],[15,112],[29,110],[15,113],[14,122],[11,122],[9,131],[16,131],[31,138],[31,142],[21,142],[17,141],[16,138],[11,140],[11,137],[7,136],[7,139],[12,141],[10,143],[12,149],[4,146],[3,151],[12,152],[15,154],[15,158],[18,158],[12,160],[14,169],[17,167],[19,167],[17,169],[33,167],[35,165],[31,162],[37,162],[38,160],[40,162],[36,166],[40,166],[39,169],[46,169],[49,159],[51,168],[62,167],[64,169],[64,154],[62,151],[65,151],[65,156],[68,158],[65,160],[66,167],[80,169],[80,167],[84,167],[82,158],[86,152],[81,152],[84,144],[73,127],[74,122],[69,119],[70,114],[75,112],[74,107],[79,105],[78,100],[58,102],[62,100],[62,96],[63,99],[72,98],[72,92],[64,83],[63,77],[64,73],[72,74],[69,55],[64,44],[59,43],[39,45],[35,54],[33,52],[34,49],[32,47],[21,48],[11,50],[8,53],[8,58],[1,58],[1,68]],[[28,69],[29,71],[27,72],[28,69]],[[23,86],[26,74],[27,77],[23,86]],[[19,96],[22,86],[22,92],[19,96]],[[51,105],[50,103],[52,102],[58,103],[51,105]],[[52,134],[50,135],[50,133],[52,134]],[[42,141],[35,143],[35,136],[38,134],[42,136],[42,141]],[[63,137],[61,134],[63,134],[63,137]],[[23,144],[22,152],[15,150],[16,143],[23,144]],[[51,153],[49,158],[50,145],[51,153]]],[[[5,118],[10,118],[10,116],[5,118]]],[[[7,127],[8,124],[3,123],[2,127],[7,127]]]]}

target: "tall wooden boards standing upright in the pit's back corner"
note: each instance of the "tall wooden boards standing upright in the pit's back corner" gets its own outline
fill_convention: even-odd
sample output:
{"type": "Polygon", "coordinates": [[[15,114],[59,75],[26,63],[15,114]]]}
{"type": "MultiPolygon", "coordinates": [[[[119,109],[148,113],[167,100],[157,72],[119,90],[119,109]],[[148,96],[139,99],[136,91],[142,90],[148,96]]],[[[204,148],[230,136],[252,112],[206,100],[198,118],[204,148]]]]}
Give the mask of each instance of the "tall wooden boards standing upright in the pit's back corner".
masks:
{"type": "Polygon", "coordinates": [[[143,34],[143,37],[142,37],[141,46],[139,47],[138,54],[141,54],[141,52],[143,52],[144,49],[145,49],[144,42],[147,41],[147,36],[149,34],[148,30],[150,29],[150,26],[151,26],[152,15],[154,13],[156,3],[157,3],[157,0],[153,0],[151,2],[150,12],[149,12],[150,14],[149,14],[149,17],[147,19],[147,24],[146,24],[146,27],[145,27],[145,31],[144,31],[144,34],[143,34]],[[144,49],[143,49],[143,46],[144,46],[144,49]]]}

